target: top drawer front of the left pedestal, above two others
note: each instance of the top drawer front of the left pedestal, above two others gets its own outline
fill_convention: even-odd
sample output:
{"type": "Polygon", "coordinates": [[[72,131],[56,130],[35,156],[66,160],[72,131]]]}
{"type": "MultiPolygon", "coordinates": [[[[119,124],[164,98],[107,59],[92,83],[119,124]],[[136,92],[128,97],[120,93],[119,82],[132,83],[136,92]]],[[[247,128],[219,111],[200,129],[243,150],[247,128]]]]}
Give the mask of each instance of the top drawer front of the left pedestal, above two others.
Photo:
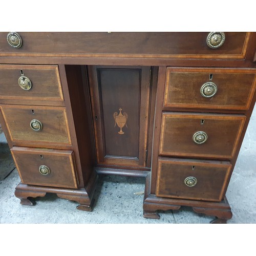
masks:
{"type": "Polygon", "coordinates": [[[63,101],[57,66],[0,65],[0,100],[63,101]]]}

